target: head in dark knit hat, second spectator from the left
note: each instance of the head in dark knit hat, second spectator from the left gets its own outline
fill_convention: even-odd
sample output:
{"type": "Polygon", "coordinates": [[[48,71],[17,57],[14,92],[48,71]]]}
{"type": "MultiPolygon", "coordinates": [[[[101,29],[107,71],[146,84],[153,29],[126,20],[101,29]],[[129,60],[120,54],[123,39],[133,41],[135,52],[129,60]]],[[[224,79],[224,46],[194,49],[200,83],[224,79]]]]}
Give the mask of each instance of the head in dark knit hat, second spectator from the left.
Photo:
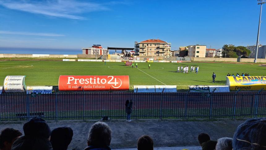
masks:
{"type": "Polygon", "coordinates": [[[23,126],[25,136],[28,137],[42,137],[49,139],[51,135],[50,127],[47,122],[39,117],[31,118],[23,126]]]}

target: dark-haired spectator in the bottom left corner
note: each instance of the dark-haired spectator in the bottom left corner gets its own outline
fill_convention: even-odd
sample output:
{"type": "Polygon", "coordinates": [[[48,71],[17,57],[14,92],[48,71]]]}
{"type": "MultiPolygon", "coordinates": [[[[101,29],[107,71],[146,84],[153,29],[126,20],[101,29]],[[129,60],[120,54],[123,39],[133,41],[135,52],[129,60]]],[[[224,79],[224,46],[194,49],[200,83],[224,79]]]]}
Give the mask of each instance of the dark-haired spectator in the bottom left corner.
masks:
{"type": "Polygon", "coordinates": [[[0,134],[0,150],[11,150],[16,139],[22,135],[21,132],[12,128],[4,129],[0,134]]]}

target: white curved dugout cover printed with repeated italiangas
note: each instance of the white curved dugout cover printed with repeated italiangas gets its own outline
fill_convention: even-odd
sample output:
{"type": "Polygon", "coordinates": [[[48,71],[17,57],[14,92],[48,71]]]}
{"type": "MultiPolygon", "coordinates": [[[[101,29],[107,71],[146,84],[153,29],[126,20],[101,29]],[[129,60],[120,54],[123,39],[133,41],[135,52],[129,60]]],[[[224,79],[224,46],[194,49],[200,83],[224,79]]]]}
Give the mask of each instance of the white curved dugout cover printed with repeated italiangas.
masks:
{"type": "Polygon", "coordinates": [[[9,75],[4,80],[5,92],[24,92],[25,86],[25,75],[9,75]]]}

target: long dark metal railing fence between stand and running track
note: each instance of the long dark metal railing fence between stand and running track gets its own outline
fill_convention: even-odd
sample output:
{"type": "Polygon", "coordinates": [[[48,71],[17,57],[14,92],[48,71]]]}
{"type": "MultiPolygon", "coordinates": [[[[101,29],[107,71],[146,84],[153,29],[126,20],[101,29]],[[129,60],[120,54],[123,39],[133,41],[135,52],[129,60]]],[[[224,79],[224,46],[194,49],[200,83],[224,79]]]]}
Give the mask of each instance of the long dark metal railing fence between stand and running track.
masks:
{"type": "Polygon", "coordinates": [[[0,94],[0,121],[126,119],[220,119],[266,116],[266,92],[54,92],[0,94]]]}

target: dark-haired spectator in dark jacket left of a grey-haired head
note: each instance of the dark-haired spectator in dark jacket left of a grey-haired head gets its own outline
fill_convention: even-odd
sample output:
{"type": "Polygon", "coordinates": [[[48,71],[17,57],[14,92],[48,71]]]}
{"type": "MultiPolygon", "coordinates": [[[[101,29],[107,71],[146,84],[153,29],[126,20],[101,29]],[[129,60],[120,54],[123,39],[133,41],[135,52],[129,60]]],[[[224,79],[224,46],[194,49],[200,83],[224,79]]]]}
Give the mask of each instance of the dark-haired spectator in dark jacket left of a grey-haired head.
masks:
{"type": "Polygon", "coordinates": [[[202,150],[214,150],[217,144],[216,141],[212,141],[207,133],[201,133],[198,135],[198,141],[202,150]]]}

